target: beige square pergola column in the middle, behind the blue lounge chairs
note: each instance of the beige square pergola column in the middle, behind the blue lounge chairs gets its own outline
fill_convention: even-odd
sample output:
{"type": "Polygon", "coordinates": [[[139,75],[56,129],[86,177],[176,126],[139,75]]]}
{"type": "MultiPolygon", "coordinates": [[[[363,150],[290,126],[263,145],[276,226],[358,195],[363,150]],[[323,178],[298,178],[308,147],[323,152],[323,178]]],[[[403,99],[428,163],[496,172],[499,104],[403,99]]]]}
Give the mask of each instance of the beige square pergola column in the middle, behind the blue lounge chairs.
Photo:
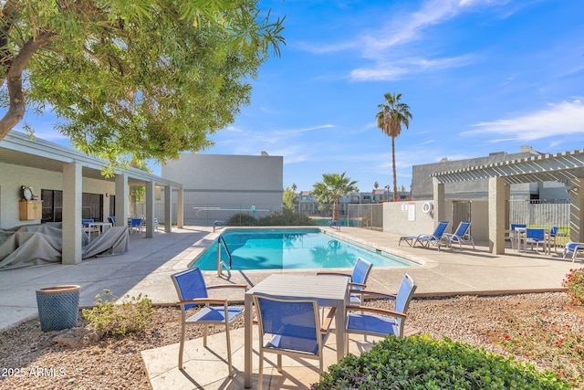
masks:
{"type": "Polygon", "coordinates": [[[505,198],[505,179],[489,178],[489,251],[494,255],[505,254],[505,198]]]}

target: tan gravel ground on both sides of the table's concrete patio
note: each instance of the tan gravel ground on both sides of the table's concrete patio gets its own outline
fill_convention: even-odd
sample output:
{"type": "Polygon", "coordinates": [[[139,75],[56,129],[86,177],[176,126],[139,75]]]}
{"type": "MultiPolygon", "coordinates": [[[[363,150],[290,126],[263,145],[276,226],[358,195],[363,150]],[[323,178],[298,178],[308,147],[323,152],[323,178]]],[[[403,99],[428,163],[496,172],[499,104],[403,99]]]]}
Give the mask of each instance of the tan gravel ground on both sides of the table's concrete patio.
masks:
{"type": "MultiPolygon", "coordinates": [[[[568,306],[566,297],[554,292],[415,299],[408,323],[435,338],[446,336],[509,355],[503,343],[517,327],[525,332],[547,334],[569,329],[584,334],[584,313],[568,306]]],[[[386,301],[369,304],[382,307],[386,301]]],[[[178,343],[179,319],[177,308],[157,307],[146,333],[100,340],[84,320],[79,321],[80,328],[59,332],[41,332],[38,320],[28,321],[0,333],[0,389],[149,389],[140,352],[178,343]]],[[[243,321],[235,326],[243,326],[243,321]]],[[[191,338],[198,336],[195,327],[188,332],[191,338]]],[[[558,359],[550,358],[557,353],[555,347],[537,343],[537,348],[550,351],[515,354],[515,360],[558,372],[558,359]]],[[[565,365],[571,364],[571,370],[584,375],[582,363],[565,365]]]]}

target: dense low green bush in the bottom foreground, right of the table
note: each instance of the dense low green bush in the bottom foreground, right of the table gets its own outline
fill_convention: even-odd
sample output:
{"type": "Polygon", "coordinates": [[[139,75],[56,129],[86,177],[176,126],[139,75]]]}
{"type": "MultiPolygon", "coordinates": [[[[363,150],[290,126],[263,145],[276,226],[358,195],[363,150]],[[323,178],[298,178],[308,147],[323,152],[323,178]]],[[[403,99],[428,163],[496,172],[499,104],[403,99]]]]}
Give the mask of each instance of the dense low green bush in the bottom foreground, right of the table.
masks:
{"type": "Polygon", "coordinates": [[[555,374],[428,335],[390,336],[328,368],[312,389],[568,389],[555,374]]]}

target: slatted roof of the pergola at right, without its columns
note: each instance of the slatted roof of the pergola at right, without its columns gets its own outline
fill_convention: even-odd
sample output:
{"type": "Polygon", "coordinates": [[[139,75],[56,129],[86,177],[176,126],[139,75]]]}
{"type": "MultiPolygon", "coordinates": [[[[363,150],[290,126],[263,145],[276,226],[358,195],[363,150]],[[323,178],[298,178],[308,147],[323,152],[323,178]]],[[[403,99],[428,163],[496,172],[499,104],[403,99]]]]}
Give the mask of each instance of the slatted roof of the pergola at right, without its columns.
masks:
{"type": "Polygon", "coordinates": [[[570,184],[584,177],[584,149],[556,154],[539,154],[519,160],[469,166],[431,174],[439,183],[503,177],[506,184],[562,182],[570,184]]]}

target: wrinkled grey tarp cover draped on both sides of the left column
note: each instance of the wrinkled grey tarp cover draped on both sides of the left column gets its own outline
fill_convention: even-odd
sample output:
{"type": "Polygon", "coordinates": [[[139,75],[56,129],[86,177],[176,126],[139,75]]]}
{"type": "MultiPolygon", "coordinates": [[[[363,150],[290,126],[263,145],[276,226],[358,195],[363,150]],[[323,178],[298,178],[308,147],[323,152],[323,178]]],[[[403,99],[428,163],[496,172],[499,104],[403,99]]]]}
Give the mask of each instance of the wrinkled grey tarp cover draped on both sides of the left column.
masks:
{"type": "MultiPolygon", "coordinates": [[[[84,233],[82,258],[125,253],[129,242],[127,227],[110,227],[89,244],[84,233]]],[[[0,269],[60,263],[62,248],[63,232],[60,224],[0,229],[0,269]]]]}

